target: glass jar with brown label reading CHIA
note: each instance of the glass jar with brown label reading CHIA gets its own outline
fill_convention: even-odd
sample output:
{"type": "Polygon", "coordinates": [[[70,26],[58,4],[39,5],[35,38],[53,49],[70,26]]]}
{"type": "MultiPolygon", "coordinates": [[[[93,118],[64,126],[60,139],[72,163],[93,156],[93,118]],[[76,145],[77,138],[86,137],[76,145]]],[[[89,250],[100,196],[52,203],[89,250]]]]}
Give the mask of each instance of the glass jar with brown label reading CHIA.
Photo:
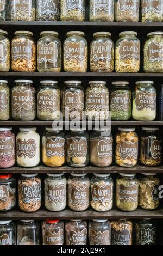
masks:
{"type": "Polygon", "coordinates": [[[70,128],[67,134],[67,164],[84,167],[89,164],[89,135],[86,128],[70,128]]]}

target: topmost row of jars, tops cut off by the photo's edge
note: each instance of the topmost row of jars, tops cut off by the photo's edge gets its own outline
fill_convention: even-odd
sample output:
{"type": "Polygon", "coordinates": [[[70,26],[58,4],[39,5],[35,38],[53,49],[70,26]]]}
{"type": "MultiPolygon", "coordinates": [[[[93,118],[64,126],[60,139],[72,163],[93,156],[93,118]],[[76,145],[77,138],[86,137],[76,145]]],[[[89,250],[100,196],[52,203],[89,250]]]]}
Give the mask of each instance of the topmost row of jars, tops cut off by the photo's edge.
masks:
{"type": "MultiPolygon", "coordinates": [[[[3,0],[0,5],[0,20],[11,21],[85,21],[85,0],[3,0]]],[[[89,2],[90,21],[162,22],[162,1],[155,4],[149,0],[131,2],[96,1],[89,2]],[[159,4],[157,6],[157,4],[159,4]],[[140,10],[141,5],[141,11],[140,10]]]]}

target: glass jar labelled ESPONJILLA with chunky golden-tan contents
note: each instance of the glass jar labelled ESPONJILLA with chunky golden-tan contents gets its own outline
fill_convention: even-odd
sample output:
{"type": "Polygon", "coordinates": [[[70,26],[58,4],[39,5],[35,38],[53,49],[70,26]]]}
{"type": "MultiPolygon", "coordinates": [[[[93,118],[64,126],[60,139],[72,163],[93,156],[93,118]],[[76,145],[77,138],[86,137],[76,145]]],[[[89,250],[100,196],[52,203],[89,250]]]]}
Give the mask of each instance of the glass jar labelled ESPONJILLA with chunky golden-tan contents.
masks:
{"type": "Polygon", "coordinates": [[[115,159],[117,166],[133,167],[138,160],[138,136],[135,128],[118,128],[115,159]]]}

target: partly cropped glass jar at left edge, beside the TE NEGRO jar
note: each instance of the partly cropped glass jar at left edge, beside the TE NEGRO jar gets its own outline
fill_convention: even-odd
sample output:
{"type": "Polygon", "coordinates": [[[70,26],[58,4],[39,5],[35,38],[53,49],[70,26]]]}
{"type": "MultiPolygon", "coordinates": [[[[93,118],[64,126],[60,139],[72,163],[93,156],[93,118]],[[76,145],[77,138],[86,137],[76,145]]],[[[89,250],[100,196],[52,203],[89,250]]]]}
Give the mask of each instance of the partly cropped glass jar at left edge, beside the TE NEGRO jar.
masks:
{"type": "Polygon", "coordinates": [[[0,80],[0,121],[10,118],[10,88],[7,80],[0,80]]]}

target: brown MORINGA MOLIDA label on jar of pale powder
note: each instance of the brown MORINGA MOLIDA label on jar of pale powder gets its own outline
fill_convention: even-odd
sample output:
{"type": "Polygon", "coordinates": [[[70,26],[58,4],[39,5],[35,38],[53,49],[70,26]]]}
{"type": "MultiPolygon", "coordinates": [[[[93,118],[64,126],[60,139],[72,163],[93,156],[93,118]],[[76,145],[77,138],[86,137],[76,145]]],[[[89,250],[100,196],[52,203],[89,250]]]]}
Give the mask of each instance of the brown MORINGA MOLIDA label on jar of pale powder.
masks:
{"type": "Polygon", "coordinates": [[[136,109],[150,109],[154,111],[156,108],[156,93],[155,92],[137,92],[135,99],[136,109]]]}

